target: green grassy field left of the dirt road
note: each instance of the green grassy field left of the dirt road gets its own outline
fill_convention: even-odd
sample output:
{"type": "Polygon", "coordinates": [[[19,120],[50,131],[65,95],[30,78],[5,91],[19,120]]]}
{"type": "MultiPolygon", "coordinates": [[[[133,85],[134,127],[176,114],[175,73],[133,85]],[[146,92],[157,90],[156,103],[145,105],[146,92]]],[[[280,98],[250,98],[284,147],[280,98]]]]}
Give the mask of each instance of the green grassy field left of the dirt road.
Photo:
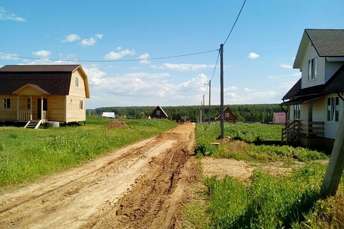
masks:
{"type": "Polygon", "coordinates": [[[0,187],[78,166],[176,124],[161,119],[128,119],[125,120],[128,127],[106,129],[105,125],[111,121],[88,116],[85,126],[0,127],[0,187]]]}

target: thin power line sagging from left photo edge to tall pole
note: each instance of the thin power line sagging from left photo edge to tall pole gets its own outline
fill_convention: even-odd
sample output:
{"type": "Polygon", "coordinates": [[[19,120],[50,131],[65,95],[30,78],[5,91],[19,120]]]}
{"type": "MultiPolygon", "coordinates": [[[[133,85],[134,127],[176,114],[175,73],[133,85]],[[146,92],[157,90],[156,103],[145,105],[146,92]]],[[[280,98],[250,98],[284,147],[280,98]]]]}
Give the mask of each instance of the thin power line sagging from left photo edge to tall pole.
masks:
{"type": "Polygon", "coordinates": [[[214,51],[218,51],[218,49],[210,50],[210,51],[204,51],[204,52],[190,53],[190,54],[182,54],[182,55],[176,55],[176,56],[156,57],[156,58],[146,58],[146,59],[132,59],[132,60],[61,60],[61,59],[45,59],[45,58],[23,57],[23,56],[14,56],[14,55],[7,55],[7,54],[0,54],[0,56],[15,57],[15,58],[22,58],[22,59],[32,59],[32,60],[71,61],[71,62],[129,62],[129,61],[142,61],[142,60],[169,59],[169,58],[176,58],[176,57],[182,57],[182,56],[198,55],[198,54],[214,52],[214,51]]]}

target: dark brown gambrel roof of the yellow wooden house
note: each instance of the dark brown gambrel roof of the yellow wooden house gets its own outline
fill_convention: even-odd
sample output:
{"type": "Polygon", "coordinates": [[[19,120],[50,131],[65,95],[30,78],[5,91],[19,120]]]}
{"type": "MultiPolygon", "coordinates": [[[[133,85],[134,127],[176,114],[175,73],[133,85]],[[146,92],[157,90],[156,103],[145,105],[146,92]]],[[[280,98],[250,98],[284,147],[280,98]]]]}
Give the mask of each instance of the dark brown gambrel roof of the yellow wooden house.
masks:
{"type": "Polygon", "coordinates": [[[80,65],[6,65],[0,68],[0,95],[34,84],[50,95],[68,95],[72,72],[80,65]]]}

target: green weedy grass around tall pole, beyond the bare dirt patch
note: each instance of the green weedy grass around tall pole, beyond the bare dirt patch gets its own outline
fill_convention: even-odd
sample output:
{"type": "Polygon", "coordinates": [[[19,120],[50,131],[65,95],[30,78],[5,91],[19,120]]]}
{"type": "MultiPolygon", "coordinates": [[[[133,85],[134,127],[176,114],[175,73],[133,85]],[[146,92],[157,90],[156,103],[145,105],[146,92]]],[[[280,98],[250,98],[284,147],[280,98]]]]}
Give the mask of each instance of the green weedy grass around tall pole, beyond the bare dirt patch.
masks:
{"type": "Polygon", "coordinates": [[[281,140],[281,126],[278,125],[226,123],[224,130],[225,136],[241,140],[242,149],[239,152],[235,151],[235,148],[231,149],[225,145],[213,146],[211,144],[217,141],[220,131],[219,123],[212,123],[211,125],[196,126],[197,146],[195,153],[198,153],[198,156],[211,155],[213,157],[259,162],[289,160],[291,158],[301,162],[328,159],[327,155],[316,150],[278,145],[281,140]]]}

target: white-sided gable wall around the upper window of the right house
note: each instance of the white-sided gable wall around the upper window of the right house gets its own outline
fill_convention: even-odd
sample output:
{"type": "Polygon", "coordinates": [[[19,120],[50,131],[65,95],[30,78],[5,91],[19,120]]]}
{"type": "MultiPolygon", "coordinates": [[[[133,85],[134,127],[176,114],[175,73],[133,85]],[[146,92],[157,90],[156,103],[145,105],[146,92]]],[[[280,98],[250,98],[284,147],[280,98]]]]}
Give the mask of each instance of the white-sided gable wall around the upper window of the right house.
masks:
{"type": "Polygon", "coordinates": [[[308,42],[305,56],[301,64],[302,70],[302,83],[301,88],[313,87],[321,84],[325,84],[325,57],[319,57],[315,48],[311,45],[311,41],[308,42]],[[317,79],[308,80],[308,61],[317,57],[317,79]]]}

